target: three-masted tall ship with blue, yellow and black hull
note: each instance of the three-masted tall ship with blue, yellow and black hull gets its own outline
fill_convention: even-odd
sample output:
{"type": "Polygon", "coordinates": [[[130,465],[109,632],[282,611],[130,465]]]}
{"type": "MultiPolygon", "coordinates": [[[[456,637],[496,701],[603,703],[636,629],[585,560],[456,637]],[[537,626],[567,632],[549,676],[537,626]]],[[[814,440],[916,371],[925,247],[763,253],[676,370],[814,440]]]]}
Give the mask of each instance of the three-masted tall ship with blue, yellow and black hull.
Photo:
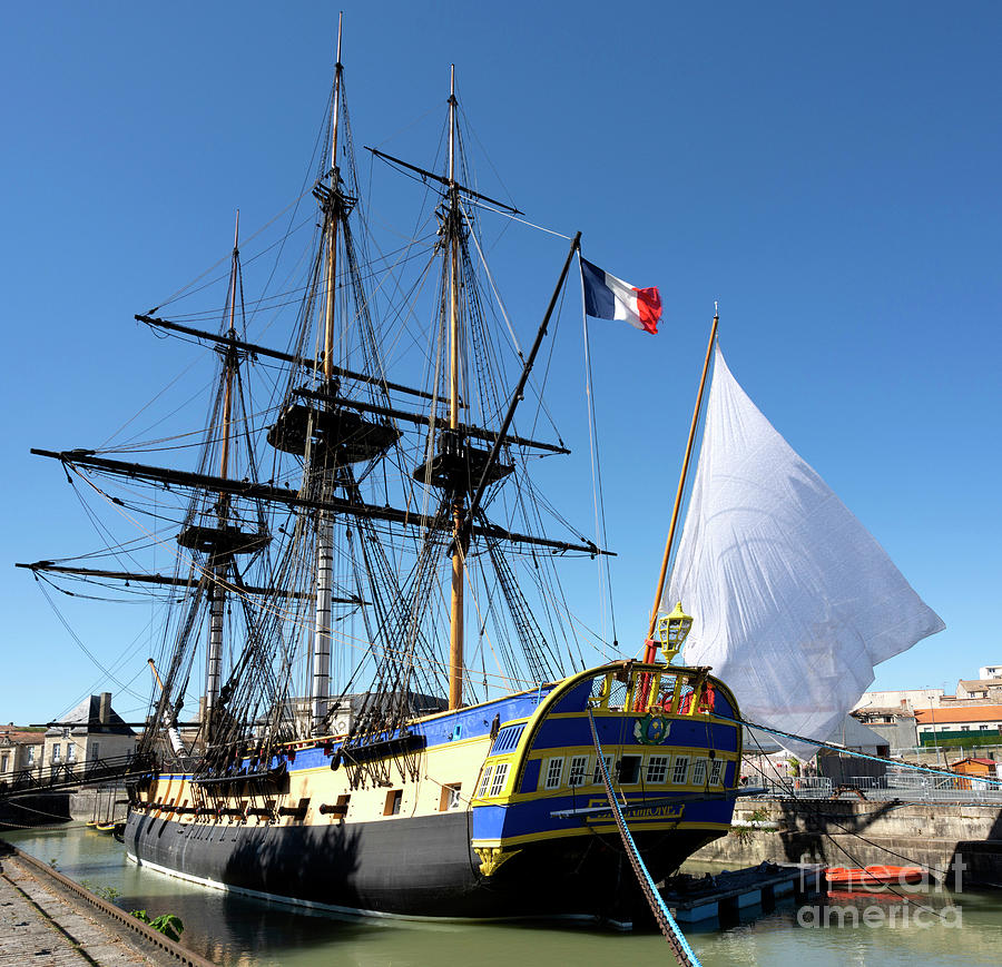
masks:
{"type": "Polygon", "coordinates": [[[217,326],[136,317],[212,349],[204,425],[35,451],[138,530],[30,566],[163,605],[138,864],[323,910],[629,919],[622,823],[654,881],[728,830],[737,703],[674,663],[681,606],[655,609],[642,655],[589,665],[560,590],[561,559],[609,554],[529,472],[569,452],[529,398],[580,236],[515,330],[481,227],[519,213],[473,187],[453,82],[438,168],[372,152],[426,193],[414,237],[379,250],[340,48],[299,274],[248,299],[237,230],[217,326]],[[250,332],[286,315],[283,345],[250,332]],[[173,566],[131,566],[150,547],[173,566]]]}

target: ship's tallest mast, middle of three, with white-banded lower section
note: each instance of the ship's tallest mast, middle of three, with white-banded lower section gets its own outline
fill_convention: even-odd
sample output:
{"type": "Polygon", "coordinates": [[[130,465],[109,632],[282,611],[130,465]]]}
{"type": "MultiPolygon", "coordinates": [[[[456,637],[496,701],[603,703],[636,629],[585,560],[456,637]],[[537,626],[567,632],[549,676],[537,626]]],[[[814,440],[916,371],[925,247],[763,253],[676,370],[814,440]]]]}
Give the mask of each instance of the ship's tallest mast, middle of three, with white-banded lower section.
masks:
{"type": "MultiPolygon", "coordinates": [[[[331,135],[331,196],[326,214],[327,257],[324,297],[324,387],[334,378],[334,299],[337,284],[337,223],[341,218],[341,177],[337,170],[337,122],[341,112],[341,31],[344,14],[337,18],[337,56],[334,62],[334,102],[331,135]]],[[[333,484],[333,471],[323,468],[324,490],[333,484]]],[[[331,596],[334,579],[334,521],[324,511],[316,521],[316,614],[313,633],[313,731],[323,731],[331,692],[331,596]]]]}

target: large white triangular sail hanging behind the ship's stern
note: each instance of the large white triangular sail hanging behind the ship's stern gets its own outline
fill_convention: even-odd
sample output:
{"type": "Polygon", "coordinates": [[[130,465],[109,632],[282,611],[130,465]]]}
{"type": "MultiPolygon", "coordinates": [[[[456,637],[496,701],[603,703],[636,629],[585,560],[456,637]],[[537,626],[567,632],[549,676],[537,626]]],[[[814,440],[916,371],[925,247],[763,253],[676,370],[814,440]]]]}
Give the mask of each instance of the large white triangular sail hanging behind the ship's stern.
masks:
{"type": "Polygon", "coordinates": [[[676,601],[695,618],[687,664],[711,665],[747,720],[822,740],[875,664],[945,626],[762,415],[719,348],[662,610],[676,601]]]}

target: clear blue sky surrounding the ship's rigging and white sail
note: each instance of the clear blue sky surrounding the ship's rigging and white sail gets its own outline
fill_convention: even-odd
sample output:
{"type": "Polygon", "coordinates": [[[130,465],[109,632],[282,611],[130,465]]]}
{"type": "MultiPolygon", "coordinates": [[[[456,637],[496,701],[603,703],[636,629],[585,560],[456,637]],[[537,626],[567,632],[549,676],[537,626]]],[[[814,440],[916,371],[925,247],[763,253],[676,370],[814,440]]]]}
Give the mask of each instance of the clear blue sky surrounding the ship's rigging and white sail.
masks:
{"type": "MultiPolygon", "coordinates": [[[[952,689],[1002,661],[1000,27],[979,2],[345,4],[360,146],[430,162],[455,62],[483,190],[661,287],[657,338],[593,324],[628,651],[719,299],[736,377],[947,624],[876,685],[952,689]]],[[[102,685],[12,566],[96,543],[28,448],[102,443],[183,365],[132,314],[226,255],[234,209],[252,230],[299,193],[335,31],[326,3],[4,11],[3,722],[102,685]]],[[[566,246],[546,238],[524,285],[504,266],[527,329],[566,246]]],[[[580,354],[577,309],[561,326],[580,354]]],[[[107,662],[134,633],[75,622],[107,662]]]]}

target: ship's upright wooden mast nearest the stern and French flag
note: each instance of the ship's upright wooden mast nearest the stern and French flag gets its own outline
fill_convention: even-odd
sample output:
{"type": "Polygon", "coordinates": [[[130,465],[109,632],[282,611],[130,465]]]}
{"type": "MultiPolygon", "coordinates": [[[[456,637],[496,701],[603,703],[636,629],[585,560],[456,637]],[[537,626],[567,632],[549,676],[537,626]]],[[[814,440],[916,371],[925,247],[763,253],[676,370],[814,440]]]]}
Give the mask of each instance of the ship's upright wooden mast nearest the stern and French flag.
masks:
{"type": "MultiPolygon", "coordinates": [[[[455,65],[449,75],[449,427],[459,427],[459,189],[455,184],[455,65]]],[[[464,500],[456,490],[452,503],[452,606],[449,620],[449,708],[463,703],[463,582],[466,543],[464,500]]]]}

